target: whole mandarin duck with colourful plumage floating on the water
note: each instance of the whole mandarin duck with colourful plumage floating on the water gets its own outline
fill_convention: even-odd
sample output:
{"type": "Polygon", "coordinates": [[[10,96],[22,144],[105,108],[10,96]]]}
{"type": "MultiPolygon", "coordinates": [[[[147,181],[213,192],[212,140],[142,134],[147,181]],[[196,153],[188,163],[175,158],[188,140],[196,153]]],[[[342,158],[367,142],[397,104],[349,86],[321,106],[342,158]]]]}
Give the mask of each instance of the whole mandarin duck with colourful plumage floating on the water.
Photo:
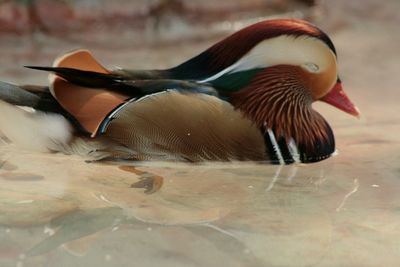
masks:
{"type": "Polygon", "coordinates": [[[303,20],[258,22],[169,69],[110,70],[87,50],[29,68],[50,84],[1,83],[0,130],[95,159],[317,162],[335,140],[312,103],[359,114],[332,41],[303,20]]]}

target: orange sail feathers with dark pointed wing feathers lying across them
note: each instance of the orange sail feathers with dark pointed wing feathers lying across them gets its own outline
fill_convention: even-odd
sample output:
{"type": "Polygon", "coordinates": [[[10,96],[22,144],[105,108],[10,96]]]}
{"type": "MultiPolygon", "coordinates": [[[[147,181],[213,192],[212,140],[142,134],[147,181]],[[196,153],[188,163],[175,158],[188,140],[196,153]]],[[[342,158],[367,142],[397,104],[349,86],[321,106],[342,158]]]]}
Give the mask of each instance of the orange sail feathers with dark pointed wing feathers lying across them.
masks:
{"type": "Polygon", "coordinates": [[[99,124],[107,115],[127,101],[167,89],[215,94],[212,87],[191,81],[158,76],[154,80],[132,80],[103,67],[88,50],[67,53],[57,58],[52,67],[30,68],[52,72],[52,95],[91,136],[97,135],[99,124]]]}

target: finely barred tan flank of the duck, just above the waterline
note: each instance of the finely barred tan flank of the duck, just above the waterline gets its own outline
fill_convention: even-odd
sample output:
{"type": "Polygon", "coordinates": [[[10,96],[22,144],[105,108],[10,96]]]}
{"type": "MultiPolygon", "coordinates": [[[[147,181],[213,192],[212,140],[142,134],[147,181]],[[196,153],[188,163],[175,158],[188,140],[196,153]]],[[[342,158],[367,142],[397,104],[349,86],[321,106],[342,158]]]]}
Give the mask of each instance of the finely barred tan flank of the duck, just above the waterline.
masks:
{"type": "Polygon", "coordinates": [[[204,94],[167,91],[126,102],[100,125],[112,141],[156,160],[267,160],[260,130],[204,94]]]}

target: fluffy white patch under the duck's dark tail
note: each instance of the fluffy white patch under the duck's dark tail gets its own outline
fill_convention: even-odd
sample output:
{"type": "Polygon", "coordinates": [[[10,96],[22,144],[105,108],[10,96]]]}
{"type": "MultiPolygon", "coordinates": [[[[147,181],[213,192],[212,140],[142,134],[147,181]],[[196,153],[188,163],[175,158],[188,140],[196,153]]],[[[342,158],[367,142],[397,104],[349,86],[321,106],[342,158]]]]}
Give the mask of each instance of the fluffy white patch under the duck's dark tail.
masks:
{"type": "Polygon", "coordinates": [[[72,140],[72,125],[62,116],[28,112],[0,101],[0,132],[13,143],[35,151],[59,151],[72,140]]]}

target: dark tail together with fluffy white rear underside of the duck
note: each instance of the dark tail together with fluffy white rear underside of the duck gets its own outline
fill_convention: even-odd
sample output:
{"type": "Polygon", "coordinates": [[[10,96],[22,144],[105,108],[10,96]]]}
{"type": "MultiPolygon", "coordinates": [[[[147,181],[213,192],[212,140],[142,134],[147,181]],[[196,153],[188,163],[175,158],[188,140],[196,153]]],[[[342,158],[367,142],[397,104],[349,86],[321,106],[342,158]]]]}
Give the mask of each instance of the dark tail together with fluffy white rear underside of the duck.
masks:
{"type": "Polygon", "coordinates": [[[61,111],[45,87],[23,88],[0,82],[0,132],[19,146],[52,151],[59,144],[68,143],[73,128],[61,111]],[[33,111],[18,106],[31,107],[33,111]]]}

